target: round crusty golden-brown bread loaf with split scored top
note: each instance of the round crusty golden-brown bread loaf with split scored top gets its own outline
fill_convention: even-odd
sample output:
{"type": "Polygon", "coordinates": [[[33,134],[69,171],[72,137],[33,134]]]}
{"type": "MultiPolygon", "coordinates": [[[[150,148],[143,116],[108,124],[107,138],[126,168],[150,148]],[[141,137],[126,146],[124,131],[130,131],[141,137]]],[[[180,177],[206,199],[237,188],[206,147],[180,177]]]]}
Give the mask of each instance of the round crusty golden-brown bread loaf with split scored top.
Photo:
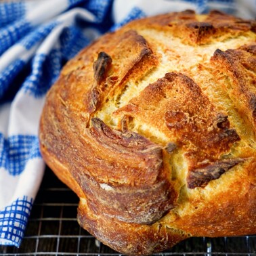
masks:
{"type": "Polygon", "coordinates": [[[79,224],[116,251],[255,234],[255,21],[185,11],[100,37],[64,66],[39,133],[79,224]]]}

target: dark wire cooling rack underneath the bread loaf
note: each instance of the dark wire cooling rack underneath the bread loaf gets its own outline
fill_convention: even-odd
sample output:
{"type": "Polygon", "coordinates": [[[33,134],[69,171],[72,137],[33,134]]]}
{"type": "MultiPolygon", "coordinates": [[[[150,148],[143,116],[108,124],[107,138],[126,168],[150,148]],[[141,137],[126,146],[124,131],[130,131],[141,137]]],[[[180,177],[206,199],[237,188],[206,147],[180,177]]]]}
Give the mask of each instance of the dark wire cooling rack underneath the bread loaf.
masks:
{"type": "MultiPolygon", "coordinates": [[[[93,238],[77,223],[79,198],[51,170],[33,205],[20,248],[1,247],[1,255],[121,255],[93,238]]],[[[154,255],[256,256],[256,235],[232,238],[189,238],[154,255]]]]}

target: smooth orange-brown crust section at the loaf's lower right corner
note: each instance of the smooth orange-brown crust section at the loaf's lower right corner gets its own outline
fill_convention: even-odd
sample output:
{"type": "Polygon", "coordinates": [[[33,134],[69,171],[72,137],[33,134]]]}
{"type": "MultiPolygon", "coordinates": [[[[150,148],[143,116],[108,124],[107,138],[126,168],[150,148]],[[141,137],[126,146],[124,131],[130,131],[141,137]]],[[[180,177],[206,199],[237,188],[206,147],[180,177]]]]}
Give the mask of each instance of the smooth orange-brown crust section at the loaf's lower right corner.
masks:
{"type": "Polygon", "coordinates": [[[228,184],[228,190],[220,189],[217,195],[209,198],[207,202],[198,201],[195,204],[196,211],[176,219],[174,227],[191,232],[194,236],[255,234],[255,168],[254,158],[239,171],[240,179],[228,184]]]}

